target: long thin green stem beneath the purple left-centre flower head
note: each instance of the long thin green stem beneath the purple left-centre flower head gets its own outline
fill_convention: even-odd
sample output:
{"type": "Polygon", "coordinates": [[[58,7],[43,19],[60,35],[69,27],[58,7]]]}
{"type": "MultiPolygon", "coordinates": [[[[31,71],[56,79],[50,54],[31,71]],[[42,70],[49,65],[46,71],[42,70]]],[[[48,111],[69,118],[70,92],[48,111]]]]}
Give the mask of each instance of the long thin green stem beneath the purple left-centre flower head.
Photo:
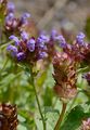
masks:
{"type": "Polygon", "coordinates": [[[40,107],[37,90],[36,90],[36,87],[35,87],[34,76],[33,76],[33,70],[31,69],[30,69],[30,83],[31,83],[31,86],[34,88],[34,91],[35,91],[38,109],[39,109],[39,113],[40,113],[40,116],[41,116],[41,120],[42,120],[42,123],[43,123],[43,130],[46,130],[46,121],[44,121],[44,118],[43,118],[43,115],[42,115],[42,112],[41,112],[41,107],[40,107]]]}

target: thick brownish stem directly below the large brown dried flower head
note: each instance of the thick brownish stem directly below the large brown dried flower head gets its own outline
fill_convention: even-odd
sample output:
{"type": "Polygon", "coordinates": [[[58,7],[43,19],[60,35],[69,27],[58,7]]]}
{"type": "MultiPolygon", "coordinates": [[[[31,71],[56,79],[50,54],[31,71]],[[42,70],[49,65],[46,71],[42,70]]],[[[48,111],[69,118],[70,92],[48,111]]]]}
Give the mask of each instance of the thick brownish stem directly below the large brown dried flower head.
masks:
{"type": "Polygon", "coordinates": [[[65,110],[66,110],[66,105],[67,104],[63,102],[62,113],[61,113],[61,115],[59,117],[59,120],[57,120],[57,122],[55,125],[54,130],[60,130],[60,127],[61,127],[61,123],[62,123],[62,120],[63,120],[63,117],[64,117],[64,114],[65,114],[65,110]]]}

